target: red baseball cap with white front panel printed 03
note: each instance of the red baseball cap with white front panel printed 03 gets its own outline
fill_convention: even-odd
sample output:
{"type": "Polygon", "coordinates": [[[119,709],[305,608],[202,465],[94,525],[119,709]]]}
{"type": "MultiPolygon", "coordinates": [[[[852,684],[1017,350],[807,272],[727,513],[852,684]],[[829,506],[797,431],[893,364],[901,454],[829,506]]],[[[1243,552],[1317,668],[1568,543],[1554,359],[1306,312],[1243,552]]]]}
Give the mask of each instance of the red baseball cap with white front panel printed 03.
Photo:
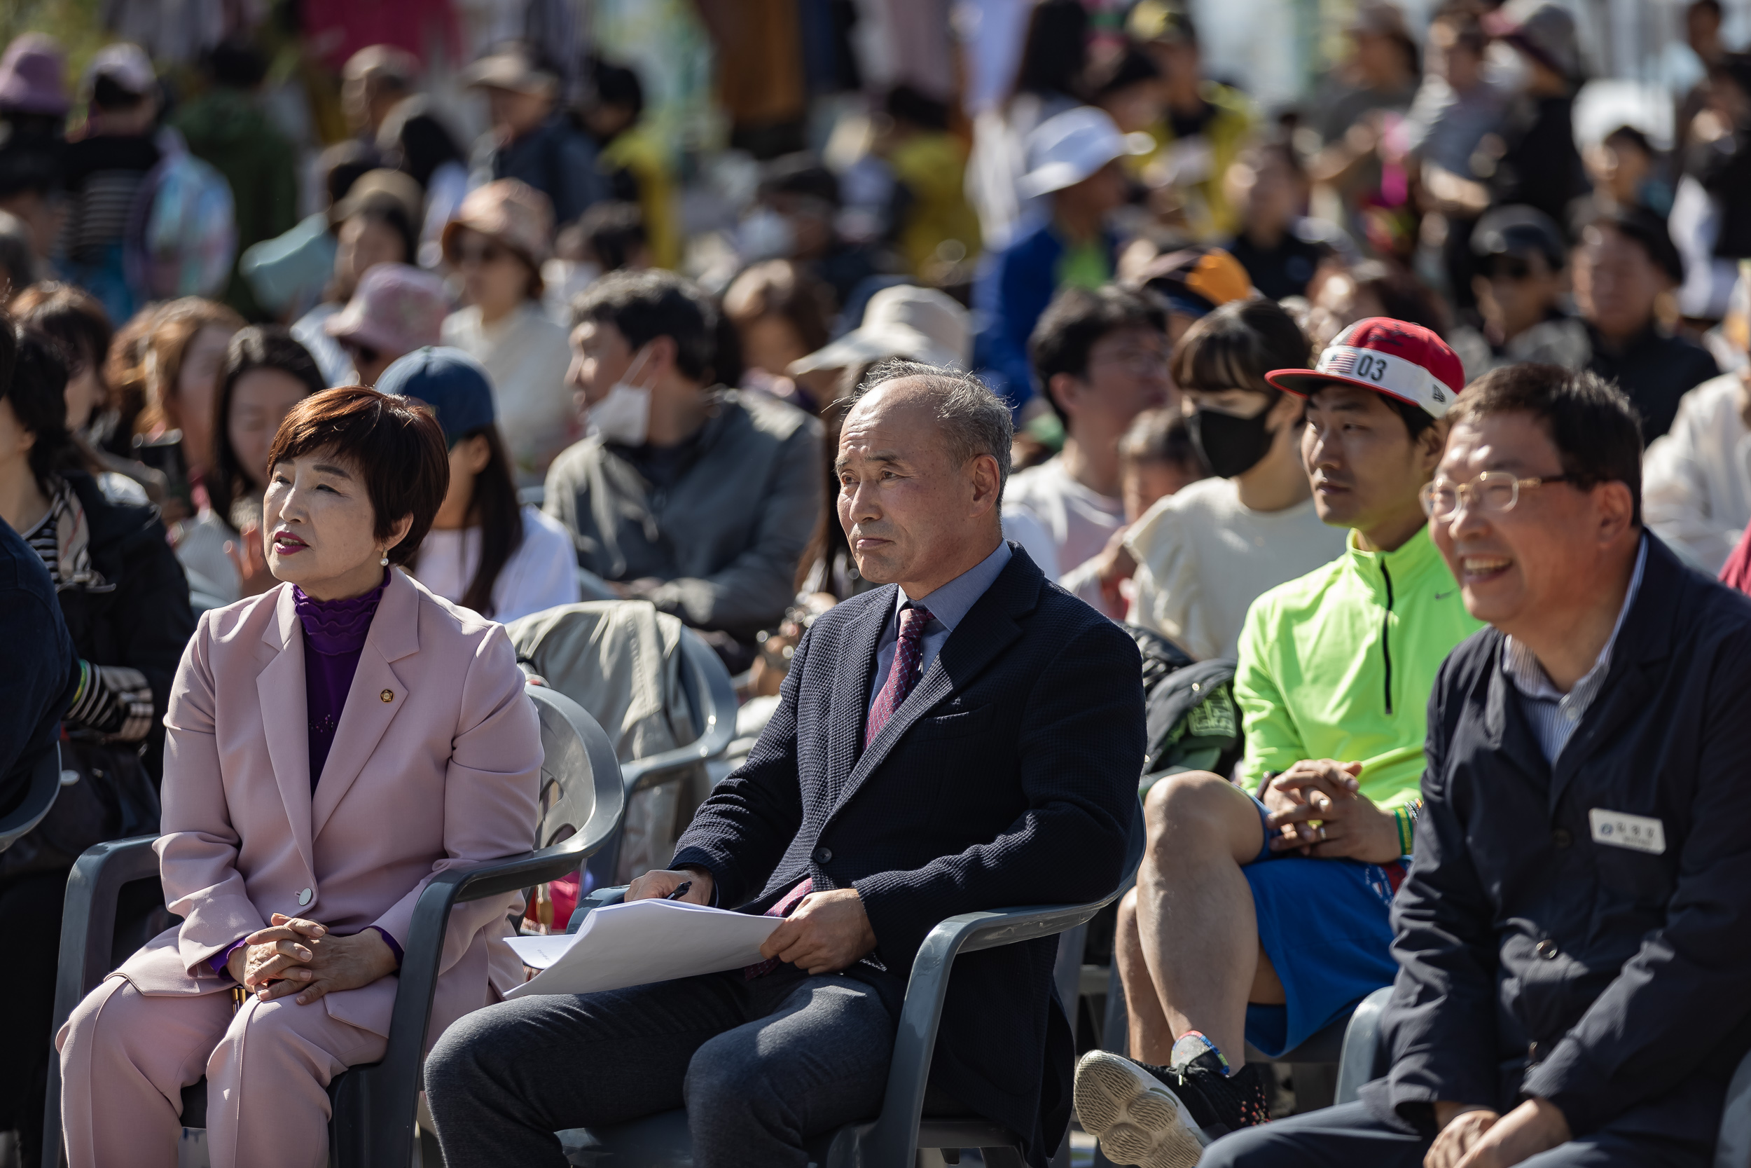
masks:
{"type": "Polygon", "coordinates": [[[1264,380],[1306,398],[1322,385],[1359,385],[1441,417],[1466,387],[1459,354],[1420,324],[1390,317],[1357,320],[1326,347],[1311,369],[1271,369],[1264,380]]]}

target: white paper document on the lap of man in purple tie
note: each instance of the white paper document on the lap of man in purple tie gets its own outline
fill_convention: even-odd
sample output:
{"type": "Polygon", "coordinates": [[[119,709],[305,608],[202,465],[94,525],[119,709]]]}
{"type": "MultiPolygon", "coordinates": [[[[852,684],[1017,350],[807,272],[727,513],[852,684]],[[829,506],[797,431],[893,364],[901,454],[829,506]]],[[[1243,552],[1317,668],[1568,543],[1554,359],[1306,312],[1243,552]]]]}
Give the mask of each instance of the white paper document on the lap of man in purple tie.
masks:
{"type": "Polygon", "coordinates": [[[760,960],[760,946],[777,926],[776,916],[679,900],[611,904],[576,933],[511,937],[524,965],[541,972],[504,996],[595,993],[741,968],[760,960]]]}

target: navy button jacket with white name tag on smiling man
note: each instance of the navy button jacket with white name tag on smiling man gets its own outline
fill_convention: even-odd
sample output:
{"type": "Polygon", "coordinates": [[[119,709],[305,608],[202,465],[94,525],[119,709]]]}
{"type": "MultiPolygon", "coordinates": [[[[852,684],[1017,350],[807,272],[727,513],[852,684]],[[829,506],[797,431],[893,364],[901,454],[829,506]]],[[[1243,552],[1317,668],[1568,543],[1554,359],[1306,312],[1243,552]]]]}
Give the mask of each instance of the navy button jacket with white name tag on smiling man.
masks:
{"type": "Polygon", "coordinates": [[[1536,1094],[1574,1135],[1695,1138],[1751,1049],[1751,601],[1651,534],[1606,685],[1544,762],[1502,634],[1441,667],[1425,809],[1392,907],[1392,1072],[1376,1114],[1536,1094]],[[1665,851],[1595,842],[1592,809],[1660,820],[1665,851]]]}

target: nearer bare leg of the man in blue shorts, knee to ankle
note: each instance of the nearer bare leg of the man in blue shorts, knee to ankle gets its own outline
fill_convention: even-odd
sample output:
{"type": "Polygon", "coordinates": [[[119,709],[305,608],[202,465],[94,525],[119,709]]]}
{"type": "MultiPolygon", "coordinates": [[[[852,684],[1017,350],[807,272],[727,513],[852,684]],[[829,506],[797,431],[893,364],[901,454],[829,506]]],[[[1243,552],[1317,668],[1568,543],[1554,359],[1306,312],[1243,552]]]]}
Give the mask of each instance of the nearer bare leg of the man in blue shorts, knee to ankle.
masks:
{"type": "Polygon", "coordinates": [[[1136,925],[1168,1028],[1203,1031],[1238,1068],[1259,970],[1257,914],[1241,867],[1259,855],[1259,813],[1227,779],[1191,772],[1156,783],[1143,820],[1136,925]]]}

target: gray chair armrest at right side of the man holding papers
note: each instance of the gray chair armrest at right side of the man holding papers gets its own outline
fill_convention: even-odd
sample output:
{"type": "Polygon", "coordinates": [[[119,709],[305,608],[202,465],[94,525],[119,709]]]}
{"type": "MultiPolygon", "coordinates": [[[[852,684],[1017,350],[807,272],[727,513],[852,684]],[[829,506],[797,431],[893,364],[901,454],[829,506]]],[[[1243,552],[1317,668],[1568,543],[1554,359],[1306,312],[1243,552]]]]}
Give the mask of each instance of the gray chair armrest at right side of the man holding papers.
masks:
{"type": "Polygon", "coordinates": [[[942,1002],[949,993],[954,958],[979,949],[1054,937],[1087,923],[1117,895],[1114,890],[1100,900],[1080,905],[963,912],[930,930],[918,949],[912,977],[905,986],[893,1061],[888,1065],[888,1091],[883,1096],[881,1117],[870,1131],[867,1163],[911,1164],[918,1156],[918,1121],[925,1110],[930,1056],[937,1047],[937,1028],[942,1024],[942,1002]]]}

